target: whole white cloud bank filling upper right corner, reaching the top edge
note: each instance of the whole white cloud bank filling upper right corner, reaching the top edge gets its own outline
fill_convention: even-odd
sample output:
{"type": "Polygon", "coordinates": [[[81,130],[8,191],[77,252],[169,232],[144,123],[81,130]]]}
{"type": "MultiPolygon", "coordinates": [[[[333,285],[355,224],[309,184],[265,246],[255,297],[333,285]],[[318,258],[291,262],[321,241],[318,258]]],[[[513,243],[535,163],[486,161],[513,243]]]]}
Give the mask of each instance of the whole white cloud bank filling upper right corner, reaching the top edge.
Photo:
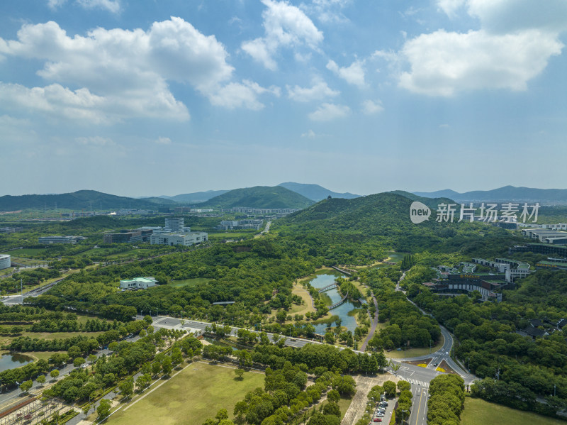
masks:
{"type": "Polygon", "coordinates": [[[410,70],[399,85],[430,96],[453,96],[476,89],[525,90],[550,58],[560,55],[559,35],[567,29],[567,1],[438,0],[453,18],[461,9],[481,28],[467,33],[444,30],[408,40],[400,51],[410,70]]]}

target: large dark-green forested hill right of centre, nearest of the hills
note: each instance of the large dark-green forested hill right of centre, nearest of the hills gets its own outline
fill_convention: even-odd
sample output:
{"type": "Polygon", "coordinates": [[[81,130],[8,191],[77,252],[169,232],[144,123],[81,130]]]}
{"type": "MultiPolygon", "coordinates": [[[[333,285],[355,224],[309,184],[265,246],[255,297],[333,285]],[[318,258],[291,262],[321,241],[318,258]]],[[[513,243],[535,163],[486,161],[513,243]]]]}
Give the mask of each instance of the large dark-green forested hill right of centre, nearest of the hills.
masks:
{"type": "Polygon", "coordinates": [[[318,239],[321,245],[330,243],[323,239],[332,238],[335,245],[347,240],[371,242],[403,252],[440,250],[482,256],[500,253],[503,247],[521,242],[510,232],[485,223],[458,223],[458,214],[452,223],[437,223],[432,210],[428,221],[414,224],[410,221],[411,204],[412,199],[391,192],[355,199],[324,199],[276,221],[272,227],[305,241],[318,239]],[[487,245],[487,237],[493,243],[487,245]]]}

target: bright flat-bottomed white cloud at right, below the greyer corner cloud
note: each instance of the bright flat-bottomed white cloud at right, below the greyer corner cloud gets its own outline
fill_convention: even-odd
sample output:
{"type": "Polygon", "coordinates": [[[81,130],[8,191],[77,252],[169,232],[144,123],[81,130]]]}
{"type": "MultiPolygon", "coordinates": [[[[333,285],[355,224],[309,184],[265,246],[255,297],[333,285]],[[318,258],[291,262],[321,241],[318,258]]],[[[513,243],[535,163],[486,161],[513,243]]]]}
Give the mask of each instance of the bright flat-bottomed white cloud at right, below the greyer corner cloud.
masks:
{"type": "Polygon", "coordinates": [[[508,35],[442,30],[422,34],[403,47],[411,70],[400,75],[399,84],[432,96],[475,89],[525,90],[527,81],[561,48],[553,35],[534,30],[508,35]]]}

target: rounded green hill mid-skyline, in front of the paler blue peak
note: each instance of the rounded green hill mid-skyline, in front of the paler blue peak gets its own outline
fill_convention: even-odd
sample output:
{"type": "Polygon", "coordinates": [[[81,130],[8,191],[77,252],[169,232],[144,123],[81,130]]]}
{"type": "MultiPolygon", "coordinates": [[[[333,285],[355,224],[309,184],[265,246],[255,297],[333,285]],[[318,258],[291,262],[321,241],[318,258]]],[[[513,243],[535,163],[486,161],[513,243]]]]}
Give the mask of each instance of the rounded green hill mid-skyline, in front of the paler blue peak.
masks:
{"type": "Polygon", "coordinates": [[[311,199],[285,187],[256,186],[234,189],[218,195],[206,202],[197,204],[201,207],[232,208],[249,206],[252,208],[305,208],[313,204],[311,199]]]}

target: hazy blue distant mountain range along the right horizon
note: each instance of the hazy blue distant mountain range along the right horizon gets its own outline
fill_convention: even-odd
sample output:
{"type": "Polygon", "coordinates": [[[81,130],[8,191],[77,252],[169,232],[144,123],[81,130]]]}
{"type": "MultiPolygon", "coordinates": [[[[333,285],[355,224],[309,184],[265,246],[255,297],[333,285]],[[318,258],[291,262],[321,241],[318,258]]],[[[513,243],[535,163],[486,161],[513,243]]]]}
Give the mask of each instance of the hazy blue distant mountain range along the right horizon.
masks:
{"type": "Polygon", "coordinates": [[[539,204],[567,204],[567,189],[535,189],[505,186],[493,190],[473,190],[459,193],[451,189],[437,192],[412,192],[420,197],[446,197],[457,202],[539,202],[539,204]]]}

